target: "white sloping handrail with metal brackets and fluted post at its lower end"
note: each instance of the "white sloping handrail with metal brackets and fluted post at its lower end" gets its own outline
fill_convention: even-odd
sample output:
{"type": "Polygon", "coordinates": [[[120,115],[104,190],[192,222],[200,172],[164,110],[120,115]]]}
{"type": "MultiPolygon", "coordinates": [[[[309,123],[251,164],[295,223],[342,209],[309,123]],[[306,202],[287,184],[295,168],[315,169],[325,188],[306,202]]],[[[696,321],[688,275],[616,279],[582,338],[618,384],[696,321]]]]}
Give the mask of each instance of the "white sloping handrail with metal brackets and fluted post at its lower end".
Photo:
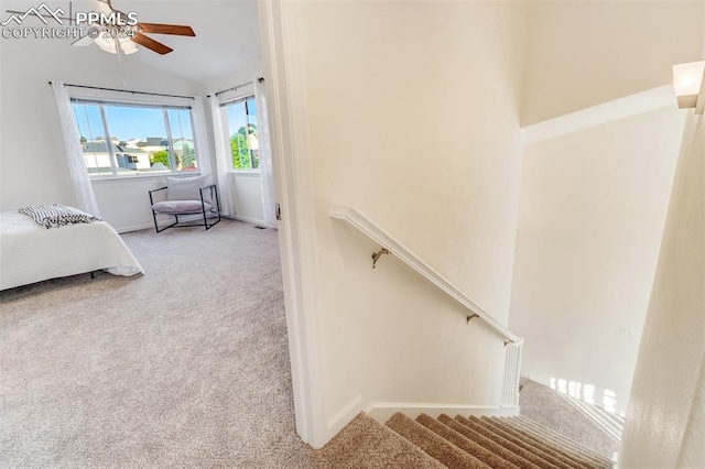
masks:
{"type": "Polygon", "coordinates": [[[422,261],[416,254],[406,249],[401,242],[387,233],[381,227],[352,207],[332,206],[332,218],[341,220],[373,240],[380,249],[372,253],[372,269],[384,254],[397,257],[403,263],[416,271],[429,282],[441,288],[453,299],[463,305],[468,315],[467,323],[477,318],[487,323],[497,334],[505,339],[505,383],[502,386],[502,407],[516,407],[519,405],[519,378],[521,372],[521,351],[524,339],[514,335],[497,321],[485,309],[467,297],[457,286],[443,277],[431,265],[422,261]]]}

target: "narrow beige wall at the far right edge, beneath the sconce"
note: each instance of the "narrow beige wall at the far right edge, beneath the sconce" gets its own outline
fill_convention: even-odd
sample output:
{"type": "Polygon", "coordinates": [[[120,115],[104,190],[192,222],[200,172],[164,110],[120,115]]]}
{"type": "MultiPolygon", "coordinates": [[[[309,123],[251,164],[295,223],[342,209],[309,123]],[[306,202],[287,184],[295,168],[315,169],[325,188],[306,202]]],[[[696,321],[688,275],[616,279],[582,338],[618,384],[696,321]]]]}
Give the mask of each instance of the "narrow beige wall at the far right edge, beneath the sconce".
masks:
{"type": "Polygon", "coordinates": [[[622,468],[699,468],[705,459],[705,119],[682,112],[691,116],[639,348],[622,468]]]}

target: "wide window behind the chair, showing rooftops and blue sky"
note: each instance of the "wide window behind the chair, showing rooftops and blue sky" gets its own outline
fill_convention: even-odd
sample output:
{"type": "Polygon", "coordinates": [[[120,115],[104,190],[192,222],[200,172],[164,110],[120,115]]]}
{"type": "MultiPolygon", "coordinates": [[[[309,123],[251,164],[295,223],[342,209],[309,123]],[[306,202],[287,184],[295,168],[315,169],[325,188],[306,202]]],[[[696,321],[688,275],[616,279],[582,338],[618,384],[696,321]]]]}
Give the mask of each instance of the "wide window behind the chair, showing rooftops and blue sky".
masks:
{"type": "Polygon", "coordinates": [[[72,102],[91,176],[198,171],[189,108],[72,102]]]}

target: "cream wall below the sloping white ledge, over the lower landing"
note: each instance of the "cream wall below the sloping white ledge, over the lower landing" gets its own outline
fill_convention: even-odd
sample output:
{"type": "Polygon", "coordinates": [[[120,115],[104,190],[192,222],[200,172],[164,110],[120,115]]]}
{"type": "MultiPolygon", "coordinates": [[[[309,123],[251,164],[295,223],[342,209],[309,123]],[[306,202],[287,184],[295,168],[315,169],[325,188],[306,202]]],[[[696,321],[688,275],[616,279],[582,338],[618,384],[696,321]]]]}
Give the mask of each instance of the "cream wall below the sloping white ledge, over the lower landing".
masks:
{"type": "Polygon", "coordinates": [[[510,327],[522,374],[626,410],[675,171],[675,106],[524,149],[510,327]],[[575,384],[573,384],[575,385],[575,384]]]}

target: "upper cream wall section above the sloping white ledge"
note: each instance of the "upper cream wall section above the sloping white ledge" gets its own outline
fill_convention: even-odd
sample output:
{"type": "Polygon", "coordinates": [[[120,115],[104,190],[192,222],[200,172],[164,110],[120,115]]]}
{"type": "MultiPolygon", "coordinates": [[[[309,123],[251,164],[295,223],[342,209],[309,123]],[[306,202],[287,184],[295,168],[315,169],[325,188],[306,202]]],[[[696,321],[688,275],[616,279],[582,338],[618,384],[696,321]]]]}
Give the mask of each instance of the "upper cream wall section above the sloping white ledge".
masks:
{"type": "Polygon", "coordinates": [[[670,84],[702,59],[705,2],[536,1],[522,126],[670,84]]]}

